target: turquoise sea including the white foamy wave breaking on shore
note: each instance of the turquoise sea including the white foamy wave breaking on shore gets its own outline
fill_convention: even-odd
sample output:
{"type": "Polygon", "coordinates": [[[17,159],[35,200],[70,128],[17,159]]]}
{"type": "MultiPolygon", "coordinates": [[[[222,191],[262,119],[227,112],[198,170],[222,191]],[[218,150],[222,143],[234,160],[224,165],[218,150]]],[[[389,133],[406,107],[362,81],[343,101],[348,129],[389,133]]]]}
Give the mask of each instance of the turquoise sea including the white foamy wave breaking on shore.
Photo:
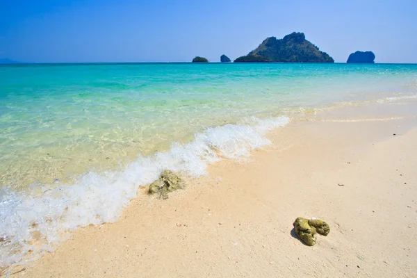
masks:
{"type": "Polygon", "coordinates": [[[293,115],[416,93],[417,65],[0,65],[0,266],[117,220],[165,168],[198,176],[293,115]]]}

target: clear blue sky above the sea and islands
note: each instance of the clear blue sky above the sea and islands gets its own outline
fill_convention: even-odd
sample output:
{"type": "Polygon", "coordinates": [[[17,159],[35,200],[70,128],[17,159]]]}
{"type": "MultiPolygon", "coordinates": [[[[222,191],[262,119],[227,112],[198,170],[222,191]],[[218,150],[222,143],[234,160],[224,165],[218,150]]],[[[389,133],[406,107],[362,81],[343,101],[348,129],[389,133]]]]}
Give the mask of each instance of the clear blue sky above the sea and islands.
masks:
{"type": "Polygon", "coordinates": [[[232,60],[293,31],[344,63],[417,63],[416,0],[0,0],[0,58],[29,63],[232,60]]]}

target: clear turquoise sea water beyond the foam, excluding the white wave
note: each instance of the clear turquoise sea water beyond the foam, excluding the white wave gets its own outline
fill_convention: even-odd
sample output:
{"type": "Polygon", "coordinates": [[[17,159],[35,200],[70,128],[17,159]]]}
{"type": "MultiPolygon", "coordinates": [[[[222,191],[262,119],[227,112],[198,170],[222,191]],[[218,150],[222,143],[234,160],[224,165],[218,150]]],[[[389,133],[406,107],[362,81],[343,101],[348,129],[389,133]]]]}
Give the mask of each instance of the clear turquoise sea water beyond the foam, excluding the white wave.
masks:
{"type": "Polygon", "coordinates": [[[70,183],[207,126],[414,90],[416,65],[0,66],[0,185],[70,183]]]}

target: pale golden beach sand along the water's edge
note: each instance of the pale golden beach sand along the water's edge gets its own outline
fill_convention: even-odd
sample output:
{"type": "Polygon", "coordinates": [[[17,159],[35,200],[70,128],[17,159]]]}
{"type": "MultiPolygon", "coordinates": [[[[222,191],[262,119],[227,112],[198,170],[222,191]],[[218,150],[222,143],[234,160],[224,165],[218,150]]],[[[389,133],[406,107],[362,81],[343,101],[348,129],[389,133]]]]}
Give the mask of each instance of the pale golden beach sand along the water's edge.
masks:
{"type": "Polygon", "coordinates": [[[142,190],[118,222],[12,277],[417,277],[415,108],[293,120],[247,161],[211,165],[166,200],[142,190]],[[298,216],[330,234],[304,245],[298,216]]]}

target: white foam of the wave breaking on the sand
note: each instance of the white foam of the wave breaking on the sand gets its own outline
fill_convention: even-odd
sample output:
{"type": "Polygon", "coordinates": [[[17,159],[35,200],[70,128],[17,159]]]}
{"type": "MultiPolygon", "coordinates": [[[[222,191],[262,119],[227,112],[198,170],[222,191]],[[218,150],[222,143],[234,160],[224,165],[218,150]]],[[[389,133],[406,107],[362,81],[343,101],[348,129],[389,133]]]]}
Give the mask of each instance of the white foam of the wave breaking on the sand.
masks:
{"type": "Polygon", "coordinates": [[[288,117],[259,120],[250,117],[238,124],[208,128],[169,152],[139,157],[122,172],[87,172],[71,186],[33,192],[0,192],[0,266],[22,264],[53,250],[63,234],[89,224],[115,222],[136,197],[139,186],[156,180],[165,169],[193,177],[205,174],[209,163],[222,157],[240,159],[270,143],[266,132],[284,126],[288,117]]]}

